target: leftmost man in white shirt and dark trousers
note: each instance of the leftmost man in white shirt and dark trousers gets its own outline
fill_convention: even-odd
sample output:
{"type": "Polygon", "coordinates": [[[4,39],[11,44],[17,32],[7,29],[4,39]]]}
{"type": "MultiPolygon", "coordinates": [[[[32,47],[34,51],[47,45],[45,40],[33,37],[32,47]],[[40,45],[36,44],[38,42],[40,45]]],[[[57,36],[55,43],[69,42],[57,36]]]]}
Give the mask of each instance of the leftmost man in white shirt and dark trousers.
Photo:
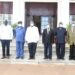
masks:
{"type": "Polygon", "coordinates": [[[0,27],[0,40],[2,44],[2,59],[9,58],[10,56],[10,41],[13,39],[13,30],[8,21],[5,20],[4,24],[0,27]],[[7,50],[5,50],[7,49],[7,50]]]}

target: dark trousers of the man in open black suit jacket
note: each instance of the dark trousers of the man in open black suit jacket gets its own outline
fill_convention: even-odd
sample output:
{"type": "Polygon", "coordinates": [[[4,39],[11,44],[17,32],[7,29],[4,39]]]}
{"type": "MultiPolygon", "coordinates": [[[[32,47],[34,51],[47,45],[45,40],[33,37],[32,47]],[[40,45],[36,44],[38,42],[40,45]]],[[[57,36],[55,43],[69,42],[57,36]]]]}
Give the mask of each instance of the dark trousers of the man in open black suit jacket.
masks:
{"type": "Polygon", "coordinates": [[[44,58],[52,59],[52,44],[44,44],[44,58]]]}

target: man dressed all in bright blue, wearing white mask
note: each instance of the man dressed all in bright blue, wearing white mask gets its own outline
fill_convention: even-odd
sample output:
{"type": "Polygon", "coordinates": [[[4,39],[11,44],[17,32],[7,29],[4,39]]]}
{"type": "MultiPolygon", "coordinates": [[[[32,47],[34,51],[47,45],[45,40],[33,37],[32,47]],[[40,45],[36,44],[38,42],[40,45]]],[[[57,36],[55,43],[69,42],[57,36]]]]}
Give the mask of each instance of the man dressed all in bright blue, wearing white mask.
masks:
{"type": "Polygon", "coordinates": [[[24,58],[24,42],[25,42],[25,28],[22,26],[22,22],[18,22],[16,27],[16,59],[24,58]]]}

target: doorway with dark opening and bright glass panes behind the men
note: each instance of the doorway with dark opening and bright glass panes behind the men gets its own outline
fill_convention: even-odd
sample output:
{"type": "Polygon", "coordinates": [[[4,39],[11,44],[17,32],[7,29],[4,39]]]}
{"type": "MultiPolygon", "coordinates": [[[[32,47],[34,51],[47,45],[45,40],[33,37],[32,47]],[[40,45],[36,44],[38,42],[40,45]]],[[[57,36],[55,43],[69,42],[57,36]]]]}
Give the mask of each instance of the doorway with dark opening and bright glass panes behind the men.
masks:
{"type": "Polygon", "coordinates": [[[43,30],[50,25],[50,28],[54,29],[56,27],[54,23],[55,18],[53,16],[33,16],[33,21],[38,27],[39,33],[42,34],[43,30]]]}

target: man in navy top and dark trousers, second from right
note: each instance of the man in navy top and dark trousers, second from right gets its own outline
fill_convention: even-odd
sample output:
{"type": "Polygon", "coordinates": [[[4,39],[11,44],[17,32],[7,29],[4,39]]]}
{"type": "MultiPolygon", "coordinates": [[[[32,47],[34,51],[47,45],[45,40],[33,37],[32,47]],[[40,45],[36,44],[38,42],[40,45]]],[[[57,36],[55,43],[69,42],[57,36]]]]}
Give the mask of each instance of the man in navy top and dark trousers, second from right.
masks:
{"type": "Polygon", "coordinates": [[[57,59],[64,59],[66,35],[67,31],[63,27],[63,23],[60,22],[59,27],[55,31],[57,59]]]}

